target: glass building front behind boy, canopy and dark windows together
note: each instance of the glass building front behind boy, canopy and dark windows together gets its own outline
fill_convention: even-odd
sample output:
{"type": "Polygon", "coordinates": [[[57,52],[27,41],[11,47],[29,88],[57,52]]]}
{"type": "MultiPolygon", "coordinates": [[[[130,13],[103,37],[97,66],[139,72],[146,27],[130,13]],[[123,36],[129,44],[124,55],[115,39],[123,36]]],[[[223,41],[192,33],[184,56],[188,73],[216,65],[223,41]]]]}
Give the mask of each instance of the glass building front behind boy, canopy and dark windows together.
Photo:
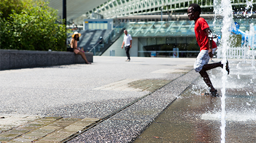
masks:
{"type": "MultiPolygon", "coordinates": [[[[222,19],[206,19],[212,33],[221,37],[222,19]]],[[[234,19],[240,27],[239,30],[249,31],[250,23],[256,19],[234,19]]],[[[159,57],[173,56],[174,48],[179,49],[179,57],[196,57],[199,52],[194,32],[194,21],[150,21],[128,22],[126,30],[132,37],[138,38],[138,56],[151,56],[156,52],[159,57]]],[[[232,26],[236,26],[233,24],[232,26]]],[[[239,36],[238,36],[239,37],[239,36]]],[[[241,38],[238,38],[241,43],[241,38]]]]}

